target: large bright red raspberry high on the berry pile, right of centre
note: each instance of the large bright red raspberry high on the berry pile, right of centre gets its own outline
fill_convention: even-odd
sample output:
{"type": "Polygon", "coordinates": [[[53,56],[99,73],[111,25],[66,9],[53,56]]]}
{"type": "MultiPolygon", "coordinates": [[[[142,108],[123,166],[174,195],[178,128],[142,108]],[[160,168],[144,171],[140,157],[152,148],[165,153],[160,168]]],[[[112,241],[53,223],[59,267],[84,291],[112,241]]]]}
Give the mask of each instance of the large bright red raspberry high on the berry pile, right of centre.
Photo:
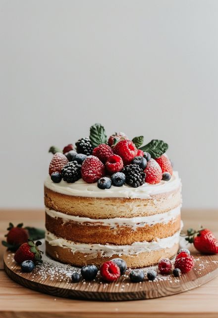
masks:
{"type": "Polygon", "coordinates": [[[137,156],[138,150],[131,140],[122,140],[113,148],[114,154],[123,159],[124,165],[129,164],[137,156]]]}

